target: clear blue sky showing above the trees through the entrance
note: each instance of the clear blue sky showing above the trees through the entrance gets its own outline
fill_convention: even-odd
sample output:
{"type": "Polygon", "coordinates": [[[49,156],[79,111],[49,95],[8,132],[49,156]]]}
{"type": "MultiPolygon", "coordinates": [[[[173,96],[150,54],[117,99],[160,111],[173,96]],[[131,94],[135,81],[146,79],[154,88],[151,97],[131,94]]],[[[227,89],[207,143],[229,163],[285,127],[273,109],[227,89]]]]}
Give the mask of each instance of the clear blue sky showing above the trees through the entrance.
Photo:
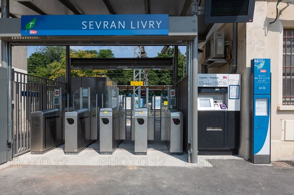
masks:
{"type": "MultiPolygon", "coordinates": [[[[28,46],[27,57],[36,51],[40,46],[28,46]]],[[[111,49],[116,58],[133,58],[134,57],[134,46],[71,46],[71,49],[75,50],[97,50],[100,49],[111,49]]],[[[163,46],[145,46],[147,57],[155,57],[157,53],[161,52],[163,46]]],[[[186,52],[186,46],[179,46],[181,53],[186,52]]]]}

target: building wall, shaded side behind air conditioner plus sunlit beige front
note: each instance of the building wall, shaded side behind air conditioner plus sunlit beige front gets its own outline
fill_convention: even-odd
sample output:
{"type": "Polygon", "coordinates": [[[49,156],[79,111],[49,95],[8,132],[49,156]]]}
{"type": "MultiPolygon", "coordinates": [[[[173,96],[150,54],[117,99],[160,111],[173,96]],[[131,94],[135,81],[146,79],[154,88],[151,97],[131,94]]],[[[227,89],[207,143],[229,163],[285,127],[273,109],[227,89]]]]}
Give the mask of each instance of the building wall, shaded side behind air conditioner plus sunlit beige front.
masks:
{"type": "MultiPolygon", "coordinates": [[[[271,59],[271,160],[294,160],[294,141],[282,141],[282,119],[294,120],[294,106],[282,105],[283,29],[294,28],[294,3],[278,5],[282,10],[276,22],[276,0],[256,0],[253,22],[238,24],[238,68],[241,74],[241,127],[239,155],[249,157],[249,75],[251,60],[271,59]]],[[[232,40],[232,24],[215,24],[211,32],[224,31],[225,41],[232,40]]],[[[209,35],[208,35],[209,37],[209,35]]],[[[208,38],[207,37],[207,38],[208,38]]],[[[199,65],[204,62],[199,55],[199,65]]],[[[203,66],[202,66],[203,68],[203,66]]],[[[203,72],[203,70],[202,70],[203,72]]],[[[229,66],[211,68],[208,73],[228,73],[229,66]]]]}

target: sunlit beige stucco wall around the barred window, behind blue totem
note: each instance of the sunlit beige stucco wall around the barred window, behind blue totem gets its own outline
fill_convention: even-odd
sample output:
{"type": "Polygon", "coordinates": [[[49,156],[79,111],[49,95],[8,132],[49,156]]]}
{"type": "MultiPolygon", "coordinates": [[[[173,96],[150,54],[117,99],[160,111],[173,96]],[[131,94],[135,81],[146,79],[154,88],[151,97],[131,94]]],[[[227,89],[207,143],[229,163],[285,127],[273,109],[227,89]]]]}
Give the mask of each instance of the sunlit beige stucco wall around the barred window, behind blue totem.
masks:
{"type": "Polygon", "coordinates": [[[294,142],[281,141],[281,120],[294,120],[294,106],[282,106],[282,63],[283,63],[283,28],[294,28],[294,4],[286,2],[278,5],[283,10],[279,19],[276,16],[276,1],[257,1],[259,11],[254,12],[254,22],[246,24],[246,66],[253,58],[271,60],[271,160],[294,160],[294,142]],[[260,7],[261,6],[261,7],[260,7]],[[252,47],[253,41],[254,49],[252,47]],[[259,43],[259,44],[258,44],[259,43]],[[258,49],[258,46],[261,45],[258,49]]]}

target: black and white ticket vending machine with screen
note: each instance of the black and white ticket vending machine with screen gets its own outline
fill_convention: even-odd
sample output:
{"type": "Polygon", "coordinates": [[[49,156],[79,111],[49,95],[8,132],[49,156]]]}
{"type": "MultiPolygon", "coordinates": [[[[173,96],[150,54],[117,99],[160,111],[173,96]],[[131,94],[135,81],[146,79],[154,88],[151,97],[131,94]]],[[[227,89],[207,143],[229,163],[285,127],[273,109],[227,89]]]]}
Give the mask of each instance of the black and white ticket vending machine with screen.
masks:
{"type": "Polygon", "coordinates": [[[198,74],[198,153],[237,154],[240,74],[198,74]]]}

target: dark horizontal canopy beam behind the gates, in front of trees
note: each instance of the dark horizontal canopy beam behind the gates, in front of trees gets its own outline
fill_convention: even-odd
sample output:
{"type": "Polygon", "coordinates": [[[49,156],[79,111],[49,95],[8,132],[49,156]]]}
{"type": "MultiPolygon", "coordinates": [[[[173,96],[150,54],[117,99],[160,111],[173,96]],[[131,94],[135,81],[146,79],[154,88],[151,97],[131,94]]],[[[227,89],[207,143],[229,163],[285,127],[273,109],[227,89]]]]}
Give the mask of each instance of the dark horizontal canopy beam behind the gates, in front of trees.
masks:
{"type": "Polygon", "coordinates": [[[72,69],[172,69],[173,58],[71,58],[72,69]]]}

